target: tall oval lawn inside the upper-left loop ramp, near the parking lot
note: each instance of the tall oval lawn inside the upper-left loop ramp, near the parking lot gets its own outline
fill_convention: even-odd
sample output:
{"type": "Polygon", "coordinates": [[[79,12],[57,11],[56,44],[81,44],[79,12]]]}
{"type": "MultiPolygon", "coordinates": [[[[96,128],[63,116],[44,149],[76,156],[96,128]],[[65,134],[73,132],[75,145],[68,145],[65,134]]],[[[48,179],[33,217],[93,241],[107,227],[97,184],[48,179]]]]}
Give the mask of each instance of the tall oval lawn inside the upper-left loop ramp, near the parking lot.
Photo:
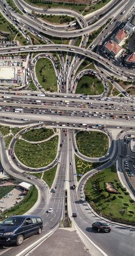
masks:
{"type": "Polygon", "coordinates": [[[57,92],[57,79],[53,64],[47,58],[40,58],[35,66],[39,83],[45,90],[57,92]]]}

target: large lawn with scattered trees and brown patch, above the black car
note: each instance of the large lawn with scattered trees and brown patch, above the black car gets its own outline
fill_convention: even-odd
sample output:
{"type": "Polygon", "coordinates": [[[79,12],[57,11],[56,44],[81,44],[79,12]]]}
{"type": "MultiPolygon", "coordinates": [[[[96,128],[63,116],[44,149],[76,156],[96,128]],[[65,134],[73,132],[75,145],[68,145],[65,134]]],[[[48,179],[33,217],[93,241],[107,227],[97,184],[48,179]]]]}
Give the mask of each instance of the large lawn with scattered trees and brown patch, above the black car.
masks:
{"type": "Polygon", "coordinates": [[[135,225],[135,204],[124,191],[114,166],[99,172],[88,180],[85,195],[91,201],[92,207],[102,216],[117,222],[133,223],[135,225]],[[117,194],[108,193],[106,182],[113,184],[117,194]],[[105,194],[102,194],[105,192],[105,194]],[[114,196],[114,198],[113,198],[114,196]],[[131,200],[131,201],[130,201],[131,200]]]}

